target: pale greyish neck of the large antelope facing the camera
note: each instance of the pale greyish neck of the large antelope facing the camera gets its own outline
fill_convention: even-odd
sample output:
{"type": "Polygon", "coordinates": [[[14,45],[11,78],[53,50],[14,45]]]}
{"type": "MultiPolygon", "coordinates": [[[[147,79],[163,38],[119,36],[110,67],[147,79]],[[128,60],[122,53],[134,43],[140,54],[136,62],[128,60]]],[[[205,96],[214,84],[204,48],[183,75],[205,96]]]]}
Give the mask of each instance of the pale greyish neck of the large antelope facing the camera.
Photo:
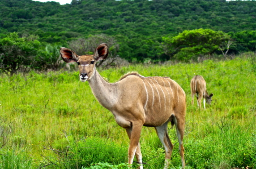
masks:
{"type": "Polygon", "coordinates": [[[94,71],[93,77],[88,80],[89,86],[99,103],[110,110],[117,104],[117,84],[106,82],[96,68],[94,71]]]}

